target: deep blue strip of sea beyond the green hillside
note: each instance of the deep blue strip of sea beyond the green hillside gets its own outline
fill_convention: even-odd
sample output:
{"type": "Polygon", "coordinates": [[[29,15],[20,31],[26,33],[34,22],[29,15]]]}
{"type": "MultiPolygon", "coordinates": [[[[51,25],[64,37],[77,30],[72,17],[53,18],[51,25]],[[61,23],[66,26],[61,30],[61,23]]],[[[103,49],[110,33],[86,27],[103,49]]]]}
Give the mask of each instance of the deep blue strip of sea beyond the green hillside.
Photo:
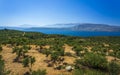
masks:
{"type": "MultiPolygon", "coordinates": [[[[4,29],[4,28],[0,28],[4,29]]],[[[8,28],[9,29],[9,28],[8,28]]],[[[98,32],[98,31],[75,31],[55,28],[38,28],[38,29],[26,29],[26,28],[10,28],[14,30],[20,30],[25,32],[40,32],[44,34],[59,34],[67,36],[80,36],[80,37],[92,37],[92,36],[120,36],[120,32],[98,32]]]]}

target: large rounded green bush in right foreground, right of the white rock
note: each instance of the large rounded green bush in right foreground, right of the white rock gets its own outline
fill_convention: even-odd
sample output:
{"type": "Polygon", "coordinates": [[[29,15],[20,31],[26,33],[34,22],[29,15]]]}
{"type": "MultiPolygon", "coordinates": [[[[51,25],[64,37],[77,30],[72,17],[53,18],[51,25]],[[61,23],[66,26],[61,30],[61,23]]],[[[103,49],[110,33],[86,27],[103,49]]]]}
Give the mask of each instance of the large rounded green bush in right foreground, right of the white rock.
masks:
{"type": "Polygon", "coordinates": [[[107,60],[104,56],[96,53],[86,53],[82,59],[76,61],[90,68],[107,70],[107,60]]]}

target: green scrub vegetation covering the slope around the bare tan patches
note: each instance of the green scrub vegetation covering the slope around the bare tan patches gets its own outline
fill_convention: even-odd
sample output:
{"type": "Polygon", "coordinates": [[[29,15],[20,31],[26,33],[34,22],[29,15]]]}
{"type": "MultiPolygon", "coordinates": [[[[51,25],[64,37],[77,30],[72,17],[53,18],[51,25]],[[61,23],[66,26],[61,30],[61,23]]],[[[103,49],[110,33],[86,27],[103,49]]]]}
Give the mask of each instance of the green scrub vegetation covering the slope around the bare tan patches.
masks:
{"type": "MultiPolygon", "coordinates": [[[[30,69],[29,75],[46,75],[46,70],[32,70],[35,57],[29,55],[31,45],[35,50],[46,56],[45,62],[55,69],[65,69],[71,65],[73,75],[119,75],[120,73],[120,37],[73,37],[64,35],[48,35],[37,32],[22,32],[16,30],[0,30],[0,55],[4,47],[10,45],[12,53],[16,55],[13,63],[23,64],[30,69]],[[24,35],[23,35],[24,34],[24,35]],[[65,44],[71,51],[65,52],[65,44]],[[46,48],[45,46],[49,46],[46,48]],[[74,53],[75,52],[75,53],[74,53]],[[69,64],[65,57],[72,57],[76,61],[69,64]],[[108,61],[107,57],[112,57],[108,61]]],[[[45,63],[44,62],[44,63],[45,63]]],[[[0,57],[0,75],[6,75],[5,62],[0,57]]],[[[57,70],[58,70],[57,69],[57,70]]]]}

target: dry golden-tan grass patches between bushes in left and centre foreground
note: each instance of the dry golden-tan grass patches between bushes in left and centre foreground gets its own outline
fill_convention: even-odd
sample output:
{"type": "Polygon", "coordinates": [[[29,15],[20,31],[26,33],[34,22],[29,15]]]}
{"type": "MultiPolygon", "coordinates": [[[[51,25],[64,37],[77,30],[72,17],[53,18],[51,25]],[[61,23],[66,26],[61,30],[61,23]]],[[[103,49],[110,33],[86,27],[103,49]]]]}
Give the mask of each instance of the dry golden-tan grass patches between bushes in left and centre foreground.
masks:
{"type": "MultiPolygon", "coordinates": [[[[36,51],[36,46],[31,45],[31,50],[28,51],[27,55],[35,57],[36,61],[32,66],[32,70],[38,70],[38,69],[46,69],[47,75],[72,75],[71,72],[67,72],[64,69],[62,70],[55,70],[53,67],[47,67],[47,63],[44,62],[47,58],[45,55],[39,53],[36,51]]],[[[46,48],[49,48],[49,46],[44,46],[46,48]]],[[[65,46],[65,50],[71,49],[69,46],[65,46]],[[67,48],[66,48],[67,47],[67,48]]],[[[69,50],[70,51],[70,50],[69,50]]],[[[23,67],[21,63],[13,62],[13,60],[16,58],[16,54],[12,53],[12,48],[3,46],[3,51],[1,52],[1,55],[3,56],[3,59],[5,60],[5,68],[7,70],[10,70],[10,75],[23,75],[25,72],[29,71],[28,67],[23,67]]],[[[69,64],[73,64],[75,58],[65,56],[65,62],[69,64]]]]}

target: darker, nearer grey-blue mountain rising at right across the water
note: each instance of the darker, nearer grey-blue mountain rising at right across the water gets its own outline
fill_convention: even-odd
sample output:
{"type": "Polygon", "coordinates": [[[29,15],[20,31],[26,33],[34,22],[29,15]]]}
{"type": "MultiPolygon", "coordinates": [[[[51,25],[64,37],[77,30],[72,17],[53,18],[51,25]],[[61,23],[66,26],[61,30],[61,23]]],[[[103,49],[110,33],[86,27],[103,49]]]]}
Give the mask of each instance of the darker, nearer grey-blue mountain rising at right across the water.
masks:
{"type": "Polygon", "coordinates": [[[120,26],[110,26],[106,24],[79,24],[68,28],[75,31],[107,31],[107,32],[119,32],[120,26]]]}

